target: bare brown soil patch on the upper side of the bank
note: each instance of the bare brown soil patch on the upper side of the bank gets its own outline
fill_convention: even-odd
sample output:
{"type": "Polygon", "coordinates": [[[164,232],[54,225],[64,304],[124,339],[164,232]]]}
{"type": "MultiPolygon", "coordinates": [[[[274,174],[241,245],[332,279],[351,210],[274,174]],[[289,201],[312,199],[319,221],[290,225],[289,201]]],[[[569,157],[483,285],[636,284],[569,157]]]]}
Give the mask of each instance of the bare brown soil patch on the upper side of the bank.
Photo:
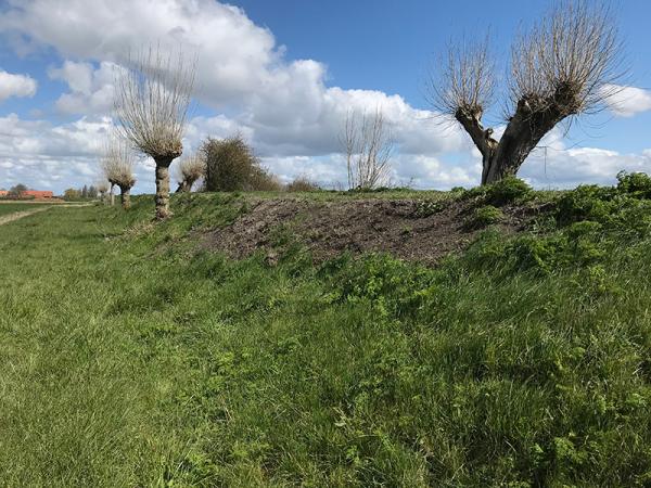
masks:
{"type": "MultiPolygon", "coordinates": [[[[433,264],[464,248],[478,230],[465,221],[469,202],[418,200],[357,200],[314,202],[294,198],[260,200],[231,226],[210,231],[209,248],[233,258],[266,249],[271,258],[283,232],[296,236],[317,261],[344,251],[388,252],[403,259],[433,264]]],[[[523,228],[532,209],[505,207],[500,224],[507,232],[523,228]]]]}

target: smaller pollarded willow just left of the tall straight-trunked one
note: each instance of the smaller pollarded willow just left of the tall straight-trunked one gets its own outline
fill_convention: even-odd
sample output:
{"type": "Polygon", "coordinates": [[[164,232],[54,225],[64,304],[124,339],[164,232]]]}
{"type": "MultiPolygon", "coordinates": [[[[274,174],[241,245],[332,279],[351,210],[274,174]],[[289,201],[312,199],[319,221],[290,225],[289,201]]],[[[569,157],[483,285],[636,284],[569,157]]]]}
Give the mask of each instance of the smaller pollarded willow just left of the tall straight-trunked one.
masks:
{"type": "MultiPolygon", "coordinates": [[[[112,196],[113,187],[117,185],[123,208],[129,208],[131,206],[131,188],[136,184],[133,176],[136,154],[130,142],[122,137],[110,137],[106,140],[100,164],[104,177],[111,183],[112,196]]],[[[113,205],[113,201],[111,204],[113,205]]]]}

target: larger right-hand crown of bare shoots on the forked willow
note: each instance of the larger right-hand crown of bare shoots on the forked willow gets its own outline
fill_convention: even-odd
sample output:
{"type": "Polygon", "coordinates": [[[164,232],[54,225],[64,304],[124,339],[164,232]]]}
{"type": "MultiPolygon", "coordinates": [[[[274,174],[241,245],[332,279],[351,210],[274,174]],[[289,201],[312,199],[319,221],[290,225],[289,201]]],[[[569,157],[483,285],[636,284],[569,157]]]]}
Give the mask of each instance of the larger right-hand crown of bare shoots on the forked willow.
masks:
{"type": "Polygon", "coordinates": [[[624,75],[622,43],[602,4],[566,0],[511,50],[510,99],[564,118],[599,111],[624,75]]]}

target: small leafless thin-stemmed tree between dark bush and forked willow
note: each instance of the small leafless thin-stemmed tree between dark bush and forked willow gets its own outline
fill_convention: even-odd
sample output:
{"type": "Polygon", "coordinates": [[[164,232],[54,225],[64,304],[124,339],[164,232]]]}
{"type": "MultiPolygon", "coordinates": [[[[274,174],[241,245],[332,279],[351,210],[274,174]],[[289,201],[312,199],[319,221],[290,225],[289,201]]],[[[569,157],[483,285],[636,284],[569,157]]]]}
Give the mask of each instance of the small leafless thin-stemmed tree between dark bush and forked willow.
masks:
{"type": "Polygon", "coordinates": [[[348,112],[341,144],[349,189],[370,190],[386,181],[394,141],[380,108],[371,115],[348,112]]]}

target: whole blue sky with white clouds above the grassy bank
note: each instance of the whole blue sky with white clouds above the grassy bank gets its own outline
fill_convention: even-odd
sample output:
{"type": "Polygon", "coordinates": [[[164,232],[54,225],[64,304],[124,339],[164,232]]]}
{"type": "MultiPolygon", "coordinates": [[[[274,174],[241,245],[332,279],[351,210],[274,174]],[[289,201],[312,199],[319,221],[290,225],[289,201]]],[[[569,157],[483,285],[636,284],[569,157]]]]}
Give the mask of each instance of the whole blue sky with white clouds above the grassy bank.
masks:
{"type": "MultiPolygon", "coordinates": [[[[197,59],[184,152],[242,133],[283,181],[346,185],[346,114],[380,107],[397,150],[391,184],[472,187],[481,157],[427,103],[427,75],[450,41],[490,34],[498,86],[514,36],[552,2],[500,0],[0,0],[0,188],[63,192],[101,179],[114,79],[149,46],[197,59]]],[[[627,75],[605,111],[552,130],[520,176],[537,188],[610,184],[651,170],[651,2],[612,11],[627,75]]],[[[498,90],[484,125],[503,130],[498,90]]],[[[135,193],[153,192],[153,162],[135,193]]]]}

